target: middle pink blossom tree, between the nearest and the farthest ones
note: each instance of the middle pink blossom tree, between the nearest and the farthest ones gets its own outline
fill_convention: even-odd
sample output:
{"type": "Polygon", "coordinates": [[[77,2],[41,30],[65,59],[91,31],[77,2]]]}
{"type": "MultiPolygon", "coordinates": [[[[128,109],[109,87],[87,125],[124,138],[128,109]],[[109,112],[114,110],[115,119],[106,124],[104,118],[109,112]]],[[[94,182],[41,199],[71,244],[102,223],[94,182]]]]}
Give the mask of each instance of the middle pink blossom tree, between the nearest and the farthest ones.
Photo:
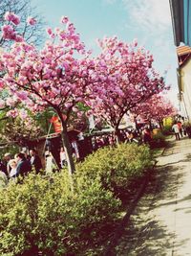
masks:
{"type": "Polygon", "coordinates": [[[167,86],[152,67],[153,56],[135,41],[125,43],[117,37],[99,40],[100,55],[92,86],[92,107],[96,117],[115,128],[129,110],[158,94],[167,86]]]}

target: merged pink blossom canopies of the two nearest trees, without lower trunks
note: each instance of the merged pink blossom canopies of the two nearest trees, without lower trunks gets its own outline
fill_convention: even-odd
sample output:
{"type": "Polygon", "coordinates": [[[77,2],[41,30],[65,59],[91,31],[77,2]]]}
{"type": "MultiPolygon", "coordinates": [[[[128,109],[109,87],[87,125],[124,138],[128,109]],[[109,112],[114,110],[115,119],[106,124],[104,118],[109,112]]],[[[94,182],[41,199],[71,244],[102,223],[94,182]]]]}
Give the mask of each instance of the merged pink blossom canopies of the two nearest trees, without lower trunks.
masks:
{"type": "Polygon", "coordinates": [[[0,56],[0,71],[6,71],[0,87],[8,86],[11,96],[32,111],[49,105],[68,122],[72,112],[81,116],[77,105],[83,103],[90,107],[87,115],[118,127],[127,111],[167,89],[152,66],[153,56],[137,40],[105,37],[93,58],[68,17],[61,23],[47,29],[51,40],[41,50],[21,41],[0,56]]]}

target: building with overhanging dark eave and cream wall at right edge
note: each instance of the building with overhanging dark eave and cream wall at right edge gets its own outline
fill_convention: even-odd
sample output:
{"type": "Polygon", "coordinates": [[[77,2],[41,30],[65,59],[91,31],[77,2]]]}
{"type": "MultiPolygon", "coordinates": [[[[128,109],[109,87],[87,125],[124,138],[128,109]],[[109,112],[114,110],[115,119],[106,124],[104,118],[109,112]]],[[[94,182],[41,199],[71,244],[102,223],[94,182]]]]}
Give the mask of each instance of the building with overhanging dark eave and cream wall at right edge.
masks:
{"type": "Polygon", "coordinates": [[[191,122],[191,0],[169,0],[178,55],[180,111],[191,122]]]}

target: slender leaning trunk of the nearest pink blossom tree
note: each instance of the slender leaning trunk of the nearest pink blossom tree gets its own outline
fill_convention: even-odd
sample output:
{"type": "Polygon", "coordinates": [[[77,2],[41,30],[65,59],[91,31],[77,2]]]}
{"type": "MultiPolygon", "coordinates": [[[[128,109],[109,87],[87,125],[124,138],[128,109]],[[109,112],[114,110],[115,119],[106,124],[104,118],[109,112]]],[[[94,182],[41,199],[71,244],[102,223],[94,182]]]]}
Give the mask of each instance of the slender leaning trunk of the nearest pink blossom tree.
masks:
{"type": "Polygon", "coordinates": [[[71,149],[71,144],[69,142],[69,137],[67,133],[67,124],[63,120],[62,114],[58,114],[61,124],[62,124],[62,132],[61,132],[61,138],[62,138],[62,144],[64,151],[66,152],[66,160],[68,164],[68,170],[69,174],[73,175],[74,173],[74,159],[73,159],[73,152],[71,149]]]}

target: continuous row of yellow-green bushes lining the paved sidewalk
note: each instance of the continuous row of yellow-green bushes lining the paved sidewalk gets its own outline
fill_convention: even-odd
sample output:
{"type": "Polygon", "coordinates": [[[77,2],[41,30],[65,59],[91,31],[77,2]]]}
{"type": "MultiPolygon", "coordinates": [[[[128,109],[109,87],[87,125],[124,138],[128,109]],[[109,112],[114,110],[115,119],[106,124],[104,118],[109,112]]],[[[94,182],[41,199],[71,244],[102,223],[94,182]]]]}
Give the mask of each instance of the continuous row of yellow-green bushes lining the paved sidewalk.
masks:
{"type": "Polygon", "coordinates": [[[73,180],[63,171],[11,182],[0,193],[0,255],[90,255],[120,216],[112,191],[142,175],[151,159],[146,146],[119,145],[88,156],[73,180]]]}

